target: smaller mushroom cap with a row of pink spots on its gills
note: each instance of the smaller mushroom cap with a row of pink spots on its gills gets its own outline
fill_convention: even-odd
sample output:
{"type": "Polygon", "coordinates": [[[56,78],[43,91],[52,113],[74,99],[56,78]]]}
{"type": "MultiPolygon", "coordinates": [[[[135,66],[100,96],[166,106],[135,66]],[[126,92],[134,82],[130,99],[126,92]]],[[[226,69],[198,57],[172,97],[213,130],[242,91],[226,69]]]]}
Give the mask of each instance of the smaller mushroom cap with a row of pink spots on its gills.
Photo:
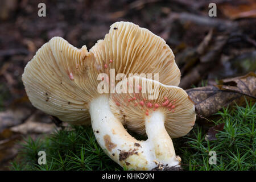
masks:
{"type": "Polygon", "coordinates": [[[126,78],[119,84],[129,85],[133,91],[127,89],[126,93],[112,94],[110,108],[131,131],[146,134],[145,118],[154,111],[164,114],[164,125],[171,138],[186,135],[195,124],[195,106],[185,90],[138,76],[126,78]],[[139,92],[135,90],[137,83],[141,86],[139,92]]]}

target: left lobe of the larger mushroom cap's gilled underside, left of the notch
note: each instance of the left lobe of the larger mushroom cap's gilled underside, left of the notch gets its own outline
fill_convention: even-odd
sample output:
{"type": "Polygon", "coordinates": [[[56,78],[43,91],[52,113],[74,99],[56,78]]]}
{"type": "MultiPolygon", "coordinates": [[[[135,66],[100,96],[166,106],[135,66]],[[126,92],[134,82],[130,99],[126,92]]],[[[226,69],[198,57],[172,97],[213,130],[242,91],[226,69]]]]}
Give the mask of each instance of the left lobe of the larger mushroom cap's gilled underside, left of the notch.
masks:
{"type": "Polygon", "coordinates": [[[97,94],[94,56],[63,38],[52,38],[26,65],[22,75],[32,105],[61,121],[84,123],[88,102],[97,94]]]}

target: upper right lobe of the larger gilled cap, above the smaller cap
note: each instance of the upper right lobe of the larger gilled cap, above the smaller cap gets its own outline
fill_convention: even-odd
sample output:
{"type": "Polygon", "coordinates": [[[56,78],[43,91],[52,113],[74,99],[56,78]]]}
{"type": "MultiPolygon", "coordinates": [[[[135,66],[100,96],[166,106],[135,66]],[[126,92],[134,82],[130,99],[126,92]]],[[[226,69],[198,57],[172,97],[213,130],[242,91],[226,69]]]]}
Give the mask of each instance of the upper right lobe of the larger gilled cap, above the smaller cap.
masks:
{"type": "Polygon", "coordinates": [[[98,40],[90,52],[94,53],[94,65],[101,72],[112,68],[115,74],[126,76],[129,73],[159,73],[159,81],[163,84],[177,86],[180,83],[180,70],[171,48],[162,38],[137,24],[112,24],[104,40],[98,40]],[[108,69],[104,70],[105,65],[108,69]]]}

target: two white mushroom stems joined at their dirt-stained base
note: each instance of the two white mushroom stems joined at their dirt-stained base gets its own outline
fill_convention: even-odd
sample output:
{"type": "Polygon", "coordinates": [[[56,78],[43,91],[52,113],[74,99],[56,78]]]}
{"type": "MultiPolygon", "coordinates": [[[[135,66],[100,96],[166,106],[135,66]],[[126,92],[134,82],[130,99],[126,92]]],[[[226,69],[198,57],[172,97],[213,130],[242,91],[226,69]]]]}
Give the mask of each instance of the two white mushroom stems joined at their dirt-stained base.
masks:
{"type": "Polygon", "coordinates": [[[120,166],[135,170],[150,170],[157,166],[155,162],[168,164],[169,167],[179,164],[179,161],[175,160],[172,140],[164,125],[158,126],[159,123],[164,122],[163,115],[161,119],[158,118],[161,114],[157,113],[147,117],[148,139],[138,141],[127,133],[122,123],[114,116],[110,110],[108,96],[100,96],[90,102],[89,112],[97,142],[120,166]]]}

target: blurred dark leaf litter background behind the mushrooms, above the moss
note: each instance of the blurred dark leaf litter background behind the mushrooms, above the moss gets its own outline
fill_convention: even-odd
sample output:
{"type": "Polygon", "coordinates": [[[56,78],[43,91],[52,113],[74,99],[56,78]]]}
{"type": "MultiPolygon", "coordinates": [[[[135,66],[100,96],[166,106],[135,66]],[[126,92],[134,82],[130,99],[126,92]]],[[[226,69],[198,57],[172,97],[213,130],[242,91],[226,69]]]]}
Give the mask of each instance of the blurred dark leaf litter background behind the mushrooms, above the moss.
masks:
{"type": "Polygon", "coordinates": [[[21,80],[27,62],[53,36],[90,49],[114,22],[148,28],[174,52],[183,89],[256,71],[253,0],[1,0],[0,21],[0,169],[8,169],[17,155],[17,140],[59,126],[57,119],[31,106],[21,80]],[[41,2],[45,17],[38,16],[41,2]],[[210,2],[217,5],[216,17],[208,15],[210,2]]]}

